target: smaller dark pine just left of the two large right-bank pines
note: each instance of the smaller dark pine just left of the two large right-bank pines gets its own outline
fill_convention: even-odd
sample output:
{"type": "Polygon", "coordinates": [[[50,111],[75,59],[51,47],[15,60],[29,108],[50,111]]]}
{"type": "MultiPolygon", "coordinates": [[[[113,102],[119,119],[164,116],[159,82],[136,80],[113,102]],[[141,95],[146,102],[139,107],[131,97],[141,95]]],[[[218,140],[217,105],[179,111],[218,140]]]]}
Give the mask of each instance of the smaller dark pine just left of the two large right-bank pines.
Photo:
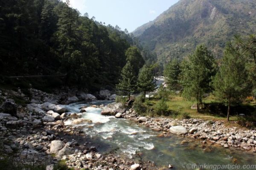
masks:
{"type": "Polygon", "coordinates": [[[180,65],[177,59],[173,59],[171,62],[168,63],[168,65],[164,69],[164,76],[168,88],[175,92],[178,88],[178,81],[180,76],[180,65]]]}

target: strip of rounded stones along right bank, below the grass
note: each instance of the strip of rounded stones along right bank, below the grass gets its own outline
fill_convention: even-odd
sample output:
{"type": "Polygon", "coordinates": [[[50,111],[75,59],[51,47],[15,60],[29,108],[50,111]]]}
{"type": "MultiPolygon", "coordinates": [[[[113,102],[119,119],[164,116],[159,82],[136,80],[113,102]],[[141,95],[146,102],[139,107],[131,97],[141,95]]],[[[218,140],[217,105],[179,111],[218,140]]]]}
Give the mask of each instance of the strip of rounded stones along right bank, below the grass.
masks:
{"type": "MultiPolygon", "coordinates": [[[[113,104],[112,104],[113,105],[113,104]]],[[[120,105],[120,104],[116,104],[120,105]]],[[[113,107],[112,107],[113,108],[113,107]]],[[[103,113],[106,110],[102,111],[103,113]]],[[[163,131],[161,136],[171,134],[182,135],[192,139],[200,139],[204,144],[219,144],[224,148],[235,147],[241,150],[256,152],[256,130],[243,130],[237,127],[226,127],[224,121],[206,121],[203,119],[169,119],[165,117],[144,117],[138,115],[134,109],[124,111],[120,108],[112,109],[111,113],[118,117],[141,123],[154,131],[163,131]],[[122,116],[116,113],[122,112],[122,116]]],[[[106,113],[105,113],[106,114],[106,113]]]]}

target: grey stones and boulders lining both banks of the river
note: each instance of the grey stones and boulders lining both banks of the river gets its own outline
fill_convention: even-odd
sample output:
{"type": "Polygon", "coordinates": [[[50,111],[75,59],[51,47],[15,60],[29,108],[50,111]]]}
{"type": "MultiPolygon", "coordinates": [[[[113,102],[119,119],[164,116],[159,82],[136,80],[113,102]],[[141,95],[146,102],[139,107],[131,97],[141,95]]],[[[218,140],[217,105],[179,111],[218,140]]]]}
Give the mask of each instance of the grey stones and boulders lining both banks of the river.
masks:
{"type": "MultiPolygon", "coordinates": [[[[81,108],[81,113],[67,114],[64,105],[60,105],[71,101],[76,102],[77,100],[70,98],[77,96],[70,97],[62,94],[56,97],[34,89],[32,92],[33,103],[25,107],[17,105],[7,96],[2,96],[4,102],[1,105],[1,112],[3,110],[6,112],[0,113],[0,159],[12,155],[14,162],[46,164],[47,170],[52,170],[54,164],[59,161],[64,161],[67,167],[73,167],[75,170],[82,168],[139,170],[142,168],[138,160],[121,158],[114,150],[105,154],[97,151],[94,144],[90,142],[90,138],[84,134],[82,127],[75,126],[88,121],[81,118],[81,113],[85,112],[84,108],[81,108]],[[64,99],[63,96],[66,98],[64,99]],[[64,124],[67,119],[72,119],[72,125],[64,124]]],[[[96,98],[91,94],[83,96],[87,97],[85,99],[90,96],[91,100],[96,98]]],[[[108,93],[105,99],[110,99],[111,96],[114,97],[108,93]]],[[[182,135],[185,137],[183,143],[189,142],[190,138],[198,139],[202,144],[218,144],[224,148],[235,147],[256,152],[256,130],[225,127],[223,121],[143,117],[133,108],[123,108],[120,103],[100,107],[102,115],[112,115],[140,123],[151,130],[162,132],[159,137],[182,135]]],[[[154,163],[148,161],[144,162],[143,169],[157,168],[154,167],[154,163]]]]}

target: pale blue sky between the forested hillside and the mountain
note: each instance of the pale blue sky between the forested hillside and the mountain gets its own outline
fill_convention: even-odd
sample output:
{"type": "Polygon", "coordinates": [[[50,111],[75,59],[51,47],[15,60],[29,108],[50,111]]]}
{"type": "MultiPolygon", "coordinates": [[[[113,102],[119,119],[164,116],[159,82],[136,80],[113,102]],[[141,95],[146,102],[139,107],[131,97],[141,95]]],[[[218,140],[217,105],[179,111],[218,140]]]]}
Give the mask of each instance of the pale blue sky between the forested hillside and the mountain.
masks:
{"type": "MultiPolygon", "coordinates": [[[[65,0],[64,0],[65,1],[65,0]]],[[[118,25],[129,32],[137,27],[154,20],[178,0],[70,0],[72,8],[80,11],[81,15],[88,13],[97,21],[118,25]]]]}

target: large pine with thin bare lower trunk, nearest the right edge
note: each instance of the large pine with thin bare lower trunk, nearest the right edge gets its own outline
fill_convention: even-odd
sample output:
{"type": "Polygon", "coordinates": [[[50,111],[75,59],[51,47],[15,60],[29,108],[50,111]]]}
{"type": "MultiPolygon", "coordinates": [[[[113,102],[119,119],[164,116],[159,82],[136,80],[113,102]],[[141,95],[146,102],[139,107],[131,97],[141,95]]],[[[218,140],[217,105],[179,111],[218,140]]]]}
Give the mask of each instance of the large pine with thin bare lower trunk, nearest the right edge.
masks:
{"type": "Polygon", "coordinates": [[[223,62],[213,81],[215,95],[219,99],[224,99],[228,104],[228,121],[232,102],[248,94],[250,86],[247,76],[244,60],[239,57],[239,53],[232,50],[232,45],[229,43],[224,52],[223,62]]]}

